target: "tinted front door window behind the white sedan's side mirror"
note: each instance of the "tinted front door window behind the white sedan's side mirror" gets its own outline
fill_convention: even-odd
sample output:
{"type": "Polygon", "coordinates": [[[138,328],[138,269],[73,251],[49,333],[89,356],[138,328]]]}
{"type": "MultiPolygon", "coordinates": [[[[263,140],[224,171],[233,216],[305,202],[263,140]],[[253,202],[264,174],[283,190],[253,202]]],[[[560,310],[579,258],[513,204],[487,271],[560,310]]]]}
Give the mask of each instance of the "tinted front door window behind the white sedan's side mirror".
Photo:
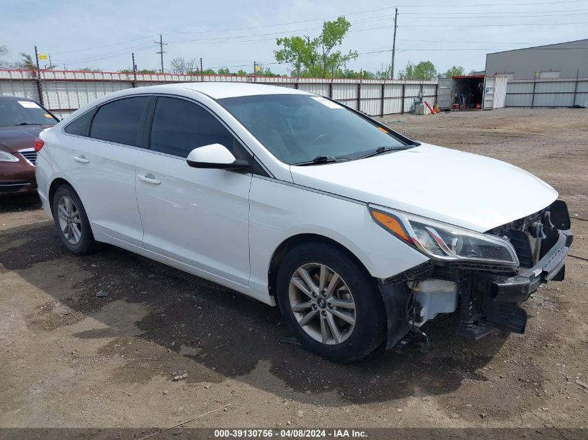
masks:
{"type": "Polygon", "coordinates": [[[244,149],[211,113],[189,101],[158,98],[151,128],[151,149],[187,157],[197,147],[221,144],[237,158],[244,149]]]}

